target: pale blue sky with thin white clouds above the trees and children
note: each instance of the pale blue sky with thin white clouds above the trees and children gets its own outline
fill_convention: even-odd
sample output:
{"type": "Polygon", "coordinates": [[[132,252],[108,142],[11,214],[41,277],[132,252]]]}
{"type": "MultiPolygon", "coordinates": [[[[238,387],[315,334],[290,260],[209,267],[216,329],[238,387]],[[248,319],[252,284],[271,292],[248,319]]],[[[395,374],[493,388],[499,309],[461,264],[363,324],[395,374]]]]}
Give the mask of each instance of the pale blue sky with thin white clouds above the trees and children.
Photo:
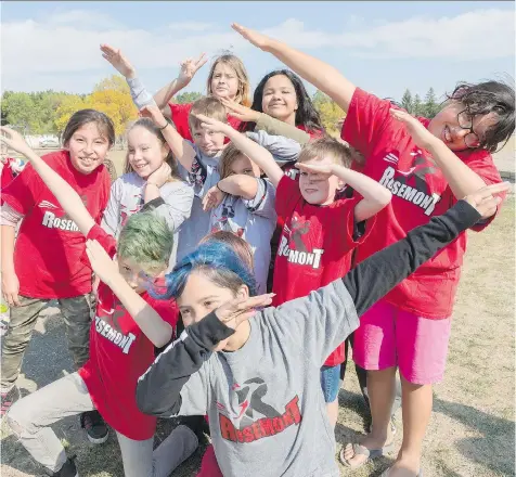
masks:
{"type": "MultiPolygon", "coordinates": [[[[181,59],[238,54],[255,86],[281,63],[234,34],[238,22],[337,67],[380,96],[459,80],[514,80],[514,2],[2,2],[1,89],[90,92],[120,48],[152,91],[181,59]]],[[[208,65],[188,90],[205,91],[208,65]]],[[[309,86],[310,92],[313,88],[309,86]]]]}

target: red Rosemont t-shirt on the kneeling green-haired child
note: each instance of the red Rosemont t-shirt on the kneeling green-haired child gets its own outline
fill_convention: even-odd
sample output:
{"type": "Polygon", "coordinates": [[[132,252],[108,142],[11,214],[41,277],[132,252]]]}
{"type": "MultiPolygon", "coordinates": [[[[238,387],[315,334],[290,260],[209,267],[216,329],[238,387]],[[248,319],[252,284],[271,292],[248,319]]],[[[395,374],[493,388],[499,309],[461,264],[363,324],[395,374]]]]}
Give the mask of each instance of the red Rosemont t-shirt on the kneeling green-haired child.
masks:
{"type": "MultiPolygon", "coordinates": [[[[111,257],[115,255],[115,238],[99,225],[91,229],[88,238],[99,241],[111,257]]],[[[136,394],[138,378],[154,361],[154,345],[107,285],[101,282],[98,295],[90,331],[90,359],[79,375],[107,424],[129,439],[150,439],[156,429],[156,417],[138,409],[136,394]]],[[[156,300],[147,293],[141,296],[176,328],[175,301],[156,300]]]]}

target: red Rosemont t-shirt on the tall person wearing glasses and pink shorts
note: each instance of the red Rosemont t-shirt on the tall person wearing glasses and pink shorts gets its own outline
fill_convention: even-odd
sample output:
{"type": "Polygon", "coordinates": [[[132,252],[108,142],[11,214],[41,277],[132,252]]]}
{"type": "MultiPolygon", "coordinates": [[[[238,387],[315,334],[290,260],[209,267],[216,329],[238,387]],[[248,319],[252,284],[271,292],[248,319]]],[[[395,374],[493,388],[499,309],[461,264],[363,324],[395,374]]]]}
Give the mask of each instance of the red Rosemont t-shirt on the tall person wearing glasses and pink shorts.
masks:
{"type": "MultiPolygon", "coordinates": [[[[341,138],[366,158],[361,171],[392,192],[391,203],[377,214],[376,227],[358,247],[357,262],[444,214],[456,202],[442,172],[429,160],[429,153],[415,145],[404,125],[390,116],[390,107],[389,101],[357,88],[343,126],[341,138]]],[[[429,123],[420,120],[425,126],[429,123]]],[[[487,184],[501,182],[487,151],[455,154],[487,184]]],[[[387,301],[429,319],[450,317],[465,248],[466,234],[462,233],[392,289],[387,301]]]]}

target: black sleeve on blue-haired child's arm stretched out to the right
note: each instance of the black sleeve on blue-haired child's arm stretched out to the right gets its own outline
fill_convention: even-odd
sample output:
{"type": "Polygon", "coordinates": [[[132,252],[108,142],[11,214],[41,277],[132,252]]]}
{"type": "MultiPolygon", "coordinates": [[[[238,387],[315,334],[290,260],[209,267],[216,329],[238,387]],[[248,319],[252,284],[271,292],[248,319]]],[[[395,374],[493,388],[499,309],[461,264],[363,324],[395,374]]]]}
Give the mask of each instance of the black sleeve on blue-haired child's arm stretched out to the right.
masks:
{"type": "Polygon", "coordinates": [[[425,225],[411,230],[403,240],[357,265],[343,281],[358,315],[361,317],[480,217],[467,202],[459,201],[442,216],[433,217],[425,225]]]}

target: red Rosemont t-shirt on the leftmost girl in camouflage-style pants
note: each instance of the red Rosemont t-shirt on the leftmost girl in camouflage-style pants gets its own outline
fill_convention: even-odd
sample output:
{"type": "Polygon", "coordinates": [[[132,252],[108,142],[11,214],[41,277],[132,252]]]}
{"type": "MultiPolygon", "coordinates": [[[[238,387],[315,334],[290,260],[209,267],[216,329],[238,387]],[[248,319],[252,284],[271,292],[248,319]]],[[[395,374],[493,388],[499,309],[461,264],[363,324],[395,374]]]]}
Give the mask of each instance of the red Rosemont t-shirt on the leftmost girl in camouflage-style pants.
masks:
{"type": "MultiPolygon", "coordinates": [[[[74,188],[100,223],[109,197],[107,169],[100,166],[82,175],[74,168],[66,151],[42,158],[74,188]]],[[[90,293],[91,270],[80,260],[85,236],[30,164],[2,191],[2,201],[24,215],[14,247],[20,295],[53,299],[90,293]]]]}

